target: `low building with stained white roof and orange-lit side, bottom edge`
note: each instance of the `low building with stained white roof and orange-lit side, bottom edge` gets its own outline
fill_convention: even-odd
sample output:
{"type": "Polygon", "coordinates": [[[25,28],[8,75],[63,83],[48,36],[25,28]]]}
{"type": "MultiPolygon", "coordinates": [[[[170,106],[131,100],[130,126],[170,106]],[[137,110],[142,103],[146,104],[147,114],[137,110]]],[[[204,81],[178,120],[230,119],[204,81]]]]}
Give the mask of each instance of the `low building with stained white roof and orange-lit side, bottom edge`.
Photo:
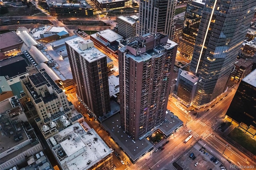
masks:
{"type": "Polygon", "coordinates": [[[114,169],[112,151],[85,122],[75,123],[47,142],[62,169],[114,169]]]}

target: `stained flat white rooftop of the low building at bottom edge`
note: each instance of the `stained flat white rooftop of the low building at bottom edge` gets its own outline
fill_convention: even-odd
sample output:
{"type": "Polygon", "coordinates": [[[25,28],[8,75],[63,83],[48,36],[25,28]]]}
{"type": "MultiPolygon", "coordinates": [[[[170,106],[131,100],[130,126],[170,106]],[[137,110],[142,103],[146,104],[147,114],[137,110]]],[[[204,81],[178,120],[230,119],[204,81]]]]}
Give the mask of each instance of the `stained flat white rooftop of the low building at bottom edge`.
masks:
{"type": "MultiPolygon", "coordinates": [[[[111,153],[110,148],[95,130],[87,130],[87,128],[84,130],[83,127],[85,126],[87,124],[81,126],[79,123],[75,123],[54,135],[55,139],[60,139],[60,143],[56,141],[58,147],[53,147],[53,150],[62,149],[66,154],[66,157],[61,162],[62,168],[68,170],[89,169],[111,153]]],[[[55,154],[57,153],[55,152],[55,154]]],[[[58,154],[57,157],[60,159],[58,154]]]]}

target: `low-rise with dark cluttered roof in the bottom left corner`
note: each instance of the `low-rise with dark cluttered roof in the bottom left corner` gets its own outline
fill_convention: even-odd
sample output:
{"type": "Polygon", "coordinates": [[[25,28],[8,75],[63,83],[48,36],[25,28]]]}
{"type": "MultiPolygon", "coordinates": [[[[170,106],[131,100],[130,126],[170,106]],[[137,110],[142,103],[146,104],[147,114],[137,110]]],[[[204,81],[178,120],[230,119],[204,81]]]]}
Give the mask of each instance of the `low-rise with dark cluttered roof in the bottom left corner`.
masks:
{"type": "Polygon", "coordinates": [[[26,156],[40,152],[43,147],[17,96],[0,102],[0,106],[0,169],[4,170],[23,164],[26,156]]]}

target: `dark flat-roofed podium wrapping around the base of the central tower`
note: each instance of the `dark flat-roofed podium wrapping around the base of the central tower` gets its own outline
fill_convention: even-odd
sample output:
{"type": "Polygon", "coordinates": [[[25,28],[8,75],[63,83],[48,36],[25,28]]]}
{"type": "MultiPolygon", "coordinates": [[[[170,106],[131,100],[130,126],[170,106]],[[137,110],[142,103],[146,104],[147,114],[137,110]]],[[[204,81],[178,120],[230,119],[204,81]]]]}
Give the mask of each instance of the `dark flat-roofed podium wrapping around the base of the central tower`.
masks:
{"type": "Polygon", "coordinates": [[[154,132],[159,131],[168,138],[172,133],[178,131],[183,122],[172,112],[166,111],[164,121],[141,140],[134,140],[121,127],[120,114],[116,114],[102,123],[102,127],[110,134],[110,137],[124,151],[132,163],[137,162],[144,154],[154,149],[154,145],[147,139],[154,132]]]}

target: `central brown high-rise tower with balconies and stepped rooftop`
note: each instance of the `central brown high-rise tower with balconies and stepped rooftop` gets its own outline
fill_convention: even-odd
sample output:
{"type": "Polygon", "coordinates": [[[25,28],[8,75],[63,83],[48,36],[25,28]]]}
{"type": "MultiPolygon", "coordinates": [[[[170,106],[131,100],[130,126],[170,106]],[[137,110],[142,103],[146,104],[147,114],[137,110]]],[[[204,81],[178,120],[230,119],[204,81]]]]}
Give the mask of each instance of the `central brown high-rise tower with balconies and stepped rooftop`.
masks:
{"type": "Polygon", "coordinates": [[[121,126],[135,140],[164,121],[177,45],[145,34],[118,51],[121,126]]]}

